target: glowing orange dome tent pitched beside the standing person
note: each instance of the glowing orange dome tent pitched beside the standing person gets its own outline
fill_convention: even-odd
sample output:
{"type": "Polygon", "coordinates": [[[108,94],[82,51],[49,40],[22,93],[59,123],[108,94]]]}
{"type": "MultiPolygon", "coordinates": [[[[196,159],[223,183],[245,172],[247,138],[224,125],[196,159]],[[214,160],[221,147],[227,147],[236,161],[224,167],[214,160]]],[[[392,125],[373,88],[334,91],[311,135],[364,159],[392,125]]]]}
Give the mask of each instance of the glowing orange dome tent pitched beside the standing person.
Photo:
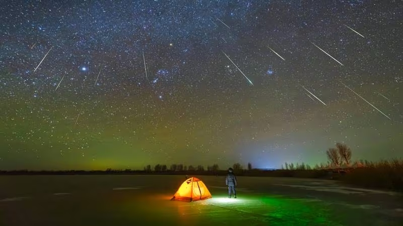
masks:
{"type": "Polygon", "coordinates": [[[211,197],[211,193],[203,181],[197,177],[190,177],[180,185],[171,200],[191,202],[211,197]]]}

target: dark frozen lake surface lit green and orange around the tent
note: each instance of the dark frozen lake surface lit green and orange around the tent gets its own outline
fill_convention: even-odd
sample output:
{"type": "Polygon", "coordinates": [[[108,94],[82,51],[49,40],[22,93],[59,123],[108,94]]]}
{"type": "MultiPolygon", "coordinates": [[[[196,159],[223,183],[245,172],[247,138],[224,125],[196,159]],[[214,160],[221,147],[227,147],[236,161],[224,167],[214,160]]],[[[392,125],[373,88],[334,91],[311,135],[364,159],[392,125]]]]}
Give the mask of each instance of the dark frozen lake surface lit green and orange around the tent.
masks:
{"type": "Polygon", "coordinates": [[[184,176],[0,176],[0,225],[403,225],[401,194],[327,180],[197,176],[213,198],[170,201],[184,176]]]}

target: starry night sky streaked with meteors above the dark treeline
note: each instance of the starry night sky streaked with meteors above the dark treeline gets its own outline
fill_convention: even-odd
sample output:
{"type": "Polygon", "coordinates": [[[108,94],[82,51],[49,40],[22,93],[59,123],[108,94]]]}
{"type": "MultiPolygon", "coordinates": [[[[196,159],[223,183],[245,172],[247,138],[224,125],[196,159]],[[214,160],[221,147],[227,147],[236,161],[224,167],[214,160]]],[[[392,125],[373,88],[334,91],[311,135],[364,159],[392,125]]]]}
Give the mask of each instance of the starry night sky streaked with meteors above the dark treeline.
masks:
{"type": "Polygon", "coordinates": [[[403,157],[402,9],[2,1],[0,169],[403,157]]]}

